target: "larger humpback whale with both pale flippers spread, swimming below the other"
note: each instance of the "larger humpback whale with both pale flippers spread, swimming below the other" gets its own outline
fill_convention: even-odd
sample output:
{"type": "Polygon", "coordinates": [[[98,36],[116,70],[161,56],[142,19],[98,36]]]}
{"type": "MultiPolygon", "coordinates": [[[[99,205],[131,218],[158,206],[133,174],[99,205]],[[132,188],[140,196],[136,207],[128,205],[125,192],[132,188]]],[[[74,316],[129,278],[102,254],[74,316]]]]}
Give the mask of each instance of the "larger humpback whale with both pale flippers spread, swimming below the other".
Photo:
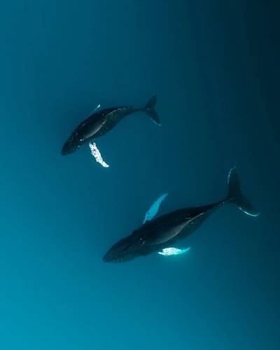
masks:
{"type": "MultiPolygon", "coordinates": [[[[160,197],[159,202],[162,201],[160,197]]],[[[125,262],[140,256],[158,252],[162,255],[185,253],[189,248],[179,249],[176,245],[191,235],[217,209],[225,204],[235,204],[245,214],[258,216],[259,213],[241,193],[239,176],[235,168],[228,174],[228,194],[224,200],[202,207],[178,209],[158,218],[145,220],[131,235],[120,239],[104,255],[104,262],[125,262]]],[[[151,207],[156,214],[158,205],[151,207]]],[[[151,215],[146,214],[146,218],[151,215]]]]}

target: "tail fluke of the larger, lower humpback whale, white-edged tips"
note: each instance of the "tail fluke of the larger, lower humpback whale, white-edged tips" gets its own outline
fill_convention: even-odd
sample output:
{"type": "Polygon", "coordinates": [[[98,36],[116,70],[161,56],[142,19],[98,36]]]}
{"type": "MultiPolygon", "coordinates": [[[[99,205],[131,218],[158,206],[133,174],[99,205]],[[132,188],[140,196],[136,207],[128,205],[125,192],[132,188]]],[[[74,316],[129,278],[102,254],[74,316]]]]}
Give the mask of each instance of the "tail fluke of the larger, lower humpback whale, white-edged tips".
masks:
{"type": "Polygon", "coordinates": [[[235,168],[230,169],[228,174],[228,200],[237,205],[241,211],[251,216],[258,216],[260,213],[244,195],[241,194],[240,180],[235,168]]]}

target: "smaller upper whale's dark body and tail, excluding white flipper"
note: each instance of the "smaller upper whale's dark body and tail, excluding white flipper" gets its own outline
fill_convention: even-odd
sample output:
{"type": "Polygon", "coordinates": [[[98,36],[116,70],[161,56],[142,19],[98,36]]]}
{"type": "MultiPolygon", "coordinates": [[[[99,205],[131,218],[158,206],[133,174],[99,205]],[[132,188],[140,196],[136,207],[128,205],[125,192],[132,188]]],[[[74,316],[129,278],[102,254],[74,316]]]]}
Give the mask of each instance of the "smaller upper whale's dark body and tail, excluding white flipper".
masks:
{"type": "Polygon", "coordinates": [[[72,132],[71,136],[62,147],[62,155],[68,155],[78,151],[80,146],[88,144],[94,139],[97,139],[97,137],[106,134],[112,130],[113,127],[116,127],[120,120],[135,112],[144,112],[151,117],[155,124],[161,125],[158,113],[155,111],[156,103],[157,97],[153,96],[144,107],[112,107],[102,110],[99,110],[99,108],[95,109],[94,112],[72,132]]]}

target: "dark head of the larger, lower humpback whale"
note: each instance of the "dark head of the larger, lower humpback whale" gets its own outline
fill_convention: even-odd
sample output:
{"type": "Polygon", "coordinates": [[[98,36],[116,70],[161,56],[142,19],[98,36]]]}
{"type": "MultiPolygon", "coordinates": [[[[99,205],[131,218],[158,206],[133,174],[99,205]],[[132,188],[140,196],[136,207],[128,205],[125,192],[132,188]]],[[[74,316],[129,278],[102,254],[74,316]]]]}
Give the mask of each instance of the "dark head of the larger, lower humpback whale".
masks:
{"type": "Polygon", "coordinates": [[[145,241],[137,235],[130,235],[120,239],[104,255],[104,262],[125,262],[144,255],[142,248],[145,241]]]}

